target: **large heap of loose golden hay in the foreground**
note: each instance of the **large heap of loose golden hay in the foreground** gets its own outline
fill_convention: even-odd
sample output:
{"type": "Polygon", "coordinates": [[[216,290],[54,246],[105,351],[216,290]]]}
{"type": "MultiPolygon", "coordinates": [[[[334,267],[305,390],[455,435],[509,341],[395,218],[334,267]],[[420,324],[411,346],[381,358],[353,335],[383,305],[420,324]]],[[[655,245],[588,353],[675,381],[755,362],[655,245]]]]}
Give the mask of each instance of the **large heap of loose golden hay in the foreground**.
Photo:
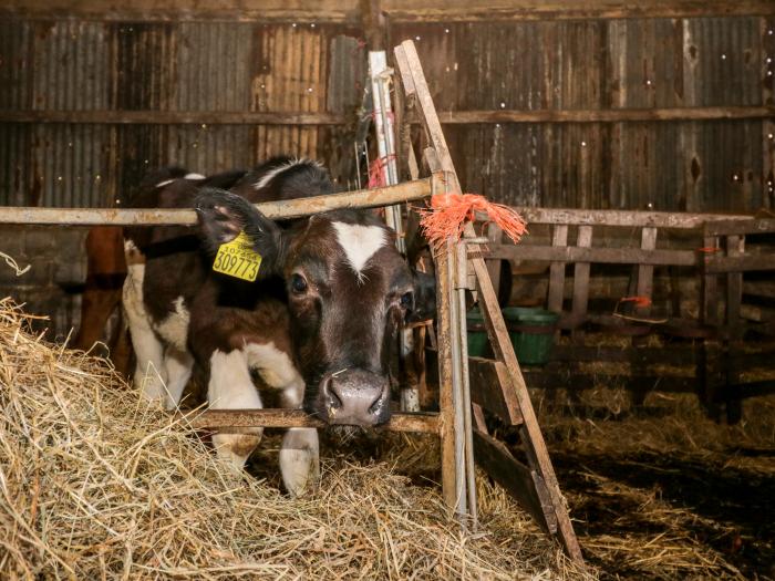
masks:
{"type": "Polygon", "coordinates": [[[475,535],[384,463],[327,460],[320,490],[291,500],[104,361],[25,329],[0,302],[2,579],[582,577],[486,479],[475,535]]]}

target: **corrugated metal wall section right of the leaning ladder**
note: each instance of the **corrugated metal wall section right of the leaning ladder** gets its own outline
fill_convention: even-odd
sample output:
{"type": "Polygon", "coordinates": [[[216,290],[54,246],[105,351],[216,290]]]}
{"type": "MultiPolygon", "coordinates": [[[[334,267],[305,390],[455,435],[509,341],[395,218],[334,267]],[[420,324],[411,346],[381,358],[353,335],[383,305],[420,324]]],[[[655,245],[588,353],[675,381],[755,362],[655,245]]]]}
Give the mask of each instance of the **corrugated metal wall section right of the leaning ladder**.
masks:
{"type": "MultiPolygon", "coordinates": [[[[415,40],[441,110],[627,110],[772,105],[772,30],[761,18],[702,18],[425,23],[392,35],[415,40]]],[[[746,211],[775,201],[765,124],[478,124],[446,133],[467,188],[507,204],[746,211]]]]}

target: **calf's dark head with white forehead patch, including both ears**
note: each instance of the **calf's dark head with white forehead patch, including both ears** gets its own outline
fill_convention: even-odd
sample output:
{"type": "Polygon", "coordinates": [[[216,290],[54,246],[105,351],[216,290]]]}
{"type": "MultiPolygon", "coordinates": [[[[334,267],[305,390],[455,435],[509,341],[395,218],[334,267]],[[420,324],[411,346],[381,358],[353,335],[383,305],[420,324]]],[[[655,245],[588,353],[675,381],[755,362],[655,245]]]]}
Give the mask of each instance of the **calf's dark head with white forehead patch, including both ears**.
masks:
{"type": "Polygon", "coordinates": [[[205,190],[197,200],[206,245],[245,231],[262,257],[256,284],[285,281],[293,359],[309,412],[330,424],[390,418],[389,357],[404,321],[433,309],[433,278],[413,271],[395,235],[371,212],[338,210],[283,229],[244,198],[205,190]]]}

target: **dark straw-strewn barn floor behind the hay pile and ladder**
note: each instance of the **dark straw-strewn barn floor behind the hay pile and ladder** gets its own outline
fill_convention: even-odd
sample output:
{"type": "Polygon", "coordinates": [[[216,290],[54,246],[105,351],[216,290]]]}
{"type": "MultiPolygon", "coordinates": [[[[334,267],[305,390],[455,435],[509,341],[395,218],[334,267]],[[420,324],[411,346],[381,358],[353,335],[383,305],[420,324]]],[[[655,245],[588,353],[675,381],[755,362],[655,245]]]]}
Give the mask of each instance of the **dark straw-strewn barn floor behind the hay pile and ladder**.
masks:
{"type": "MultiPolygon", "coordinates": [[[[747,401],[738,426],[707,421],[691,395],[651,394],[632,409],[623,390],[582,398],[583,413],[550,413],[534,394],[595,577],[775,579],[775,396],[747,401]]],[[[431,439],[393,437],[400,442],[356,437],[342,461],[381,459],[415,485],[438,480],[431,439]]],[[[323,455],[341,452],[323,437],[323,455]]],[[[273,454],[265,449],[256,474],[277,479],[266,468],[273,454]]],[[[528,517],[519,533],[530,543],[540,536],[528,517]]]]}

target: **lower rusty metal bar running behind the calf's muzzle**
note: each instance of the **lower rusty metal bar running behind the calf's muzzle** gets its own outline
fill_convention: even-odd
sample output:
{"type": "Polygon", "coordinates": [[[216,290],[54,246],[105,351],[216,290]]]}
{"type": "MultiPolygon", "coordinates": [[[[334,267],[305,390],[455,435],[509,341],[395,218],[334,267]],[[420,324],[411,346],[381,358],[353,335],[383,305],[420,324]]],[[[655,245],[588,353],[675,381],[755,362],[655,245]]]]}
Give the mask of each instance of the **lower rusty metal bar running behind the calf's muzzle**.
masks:
{"type": "MultiPolygon", "coordinates": [[[[176,414],[175,419],[195,428],[239,433],[248,427],[328,427],[329,424],[302,409],[207,409],[176,414]]],[[[437,414],[393,414],[375,429],[438,434],[437,414]]]]}

